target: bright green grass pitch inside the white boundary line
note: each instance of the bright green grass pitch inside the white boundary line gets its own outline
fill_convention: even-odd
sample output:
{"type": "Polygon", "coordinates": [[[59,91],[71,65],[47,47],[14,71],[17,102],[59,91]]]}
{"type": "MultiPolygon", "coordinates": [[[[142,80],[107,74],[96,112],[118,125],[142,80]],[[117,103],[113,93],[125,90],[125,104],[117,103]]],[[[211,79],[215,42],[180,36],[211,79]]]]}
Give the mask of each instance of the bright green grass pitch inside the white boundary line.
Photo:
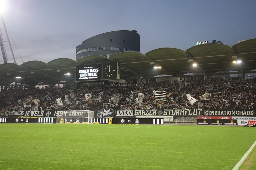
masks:
{"type": "Polygon", "coordinates": [[[0,124],[0,169],[233,169],[256,128],[0,124]]]}

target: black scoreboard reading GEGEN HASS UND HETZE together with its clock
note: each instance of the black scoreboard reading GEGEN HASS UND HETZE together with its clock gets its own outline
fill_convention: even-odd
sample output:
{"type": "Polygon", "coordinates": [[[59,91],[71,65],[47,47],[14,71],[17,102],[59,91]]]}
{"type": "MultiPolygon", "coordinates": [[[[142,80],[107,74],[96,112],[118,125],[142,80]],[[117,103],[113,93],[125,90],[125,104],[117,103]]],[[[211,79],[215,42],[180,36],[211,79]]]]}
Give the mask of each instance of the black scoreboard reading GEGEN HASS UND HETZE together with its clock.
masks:
{"type": "Polygon", "coordinates": [[[76,81],[119,79],[118,62],[76,66],[76,81]]]}

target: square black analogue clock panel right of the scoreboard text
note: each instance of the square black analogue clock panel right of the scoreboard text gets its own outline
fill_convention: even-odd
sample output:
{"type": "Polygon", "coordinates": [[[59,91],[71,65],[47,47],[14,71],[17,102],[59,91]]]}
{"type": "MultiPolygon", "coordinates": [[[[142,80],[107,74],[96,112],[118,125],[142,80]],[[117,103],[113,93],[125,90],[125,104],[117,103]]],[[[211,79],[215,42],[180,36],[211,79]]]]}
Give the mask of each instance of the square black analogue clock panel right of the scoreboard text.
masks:
{"type": "Polygon", "coordinates": [[[105,63],[103,64],[103,79],[117,78],[117,64],[116,63],[105,63]]]}

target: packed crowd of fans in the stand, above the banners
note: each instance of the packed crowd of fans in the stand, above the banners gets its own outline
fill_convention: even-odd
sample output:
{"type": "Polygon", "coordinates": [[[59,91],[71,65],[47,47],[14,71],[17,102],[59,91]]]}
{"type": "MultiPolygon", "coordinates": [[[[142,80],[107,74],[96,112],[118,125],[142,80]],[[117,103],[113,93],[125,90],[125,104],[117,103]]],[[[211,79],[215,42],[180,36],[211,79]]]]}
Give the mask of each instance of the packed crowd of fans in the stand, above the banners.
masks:
{"type": "Polygon", "coordinates": [[[256,108],[256,78],[241,80],[232,78],[223,80],[222,78],[207,79],[204,81],[182,81],[181,91],[182,101],[177,101],[179,83],[170,82],[150,82],[144,86],[111,86],[111,83],[98,85],[84,85],[71,87],[44,87],[23,90],[2,90],[0,93],[0,111],[33,111],[33,110],[91,110],[97,111],[111,99],[113,93],[119,93],[119,103],[115,105],[111,101],[112,107],[116,109],[254,109],[256,108]],[[228,83],[229,82],[229,83],[228,83]],[[230,84],[227,86],[227,83],[230,84]],[[153,90],[166,91],[166,101],[155,103],[153,90]],[[126,100],[131,91],[132,100],[126,100]],[[99,93],[103,92],[103,97],[99,100],[99,93]],[[92,97],[86,100],[85,94],[92,93],[92,97]],[[143,103],[141,106],[135,101],[137,93],[143,93],[143,103]],[[197,101],[191,105],[185,94],[190,94],[197,101]],[[210,100],[201,102],[200,95],[211,93],[210,100]],[[47,96],[51,100],[47,100],[47,96]],[[66,95],[66,98],[65,98],[66,95]],[[56,105],[57,98],[61,98],[62,105],[56,105]],[[173,100],[172,100],[173,98],[173,100]],[[19,100],[20,99],[20,100],[19,100]],[[25,101],[39,99],[40,104],[31,101],[30,107],[24,107],[25,101]],[[171,100],[170,100],[171,99],[171,100]],[[21,103],[18,101],[22,101],[21,103]]]}

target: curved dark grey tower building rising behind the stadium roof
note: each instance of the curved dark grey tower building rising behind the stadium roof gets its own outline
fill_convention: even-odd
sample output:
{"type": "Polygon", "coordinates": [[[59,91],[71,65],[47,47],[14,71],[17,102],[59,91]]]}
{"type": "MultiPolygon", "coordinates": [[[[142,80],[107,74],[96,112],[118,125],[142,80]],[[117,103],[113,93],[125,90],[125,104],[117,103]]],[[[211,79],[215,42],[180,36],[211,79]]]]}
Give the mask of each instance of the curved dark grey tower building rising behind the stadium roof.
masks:
{"type": "Polygon", "coordinates": [[[88,55],[111,56],[123,51],[140,52],[140,35],[136,30],[111,31],[88,38],[76,47],[76,59],[88,55]]]}

